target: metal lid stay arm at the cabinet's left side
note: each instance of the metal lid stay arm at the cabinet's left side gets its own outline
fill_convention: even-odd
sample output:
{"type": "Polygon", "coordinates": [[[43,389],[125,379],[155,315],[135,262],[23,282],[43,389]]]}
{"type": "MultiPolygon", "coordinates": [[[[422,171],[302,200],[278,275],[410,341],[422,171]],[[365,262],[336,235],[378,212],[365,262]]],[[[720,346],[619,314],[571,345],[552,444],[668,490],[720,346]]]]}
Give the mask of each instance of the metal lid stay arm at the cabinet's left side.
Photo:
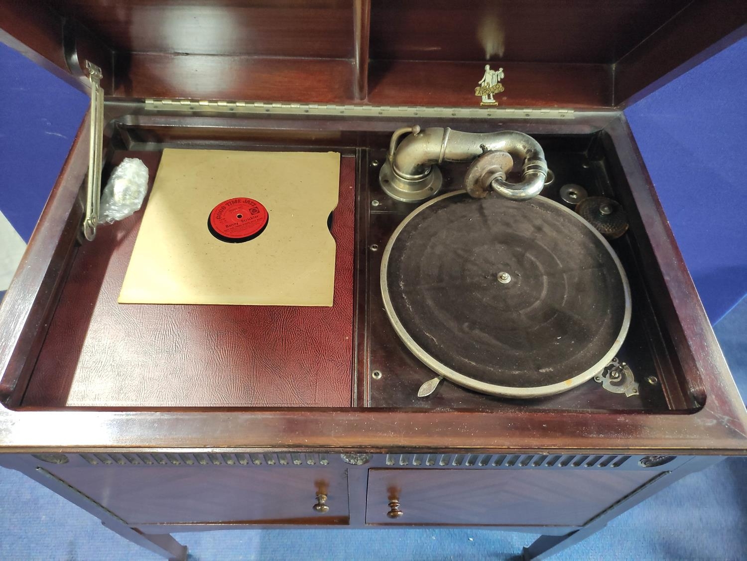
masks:
{"type": "Polygon", "coordinates": [[[88,182],[86,187],[86,214],[83,219],[83,234],[88,241],[96,238],[101,199],[101,168],[104,150],[104,90],[103,77],[96,64],[86,61],[88,79],[91,82],[90,147],[88,149],[88,182]]]}

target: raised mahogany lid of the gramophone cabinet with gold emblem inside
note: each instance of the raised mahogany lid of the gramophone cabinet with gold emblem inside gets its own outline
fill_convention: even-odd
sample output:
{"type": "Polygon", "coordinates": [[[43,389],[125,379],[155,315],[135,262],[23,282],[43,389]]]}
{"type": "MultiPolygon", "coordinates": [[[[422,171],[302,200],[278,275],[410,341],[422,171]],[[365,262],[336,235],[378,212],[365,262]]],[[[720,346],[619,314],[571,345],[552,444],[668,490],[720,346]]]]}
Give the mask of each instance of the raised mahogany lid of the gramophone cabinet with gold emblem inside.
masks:
{"type": "Polygon", "coordinates": [[[744,0],[0,0],[0,40],[131,99],[620,107],[746,22],[744,0]]]}

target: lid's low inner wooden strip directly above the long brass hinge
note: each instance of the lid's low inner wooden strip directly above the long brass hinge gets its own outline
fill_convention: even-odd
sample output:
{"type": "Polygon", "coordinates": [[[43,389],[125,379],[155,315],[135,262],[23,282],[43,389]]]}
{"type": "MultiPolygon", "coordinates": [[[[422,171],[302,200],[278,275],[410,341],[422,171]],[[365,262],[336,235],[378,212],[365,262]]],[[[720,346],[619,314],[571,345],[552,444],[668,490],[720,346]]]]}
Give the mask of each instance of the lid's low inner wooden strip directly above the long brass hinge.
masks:
{"type": "MultiPolygon", "coordinates": [[[[366,101],[373,105],[479,106],[474,88],[483,66],[371,61],[366,101]]],[[[167,99],[353,103],[353,81],[360,78],[350,61],[289,58],[136,53],[120,56],[117,69],[115,96],[167,99]]],[[[505,91],[495,96],[500,106],[589,108],[612,103],[610,66],[505,63],[503,69],[505,91]]]]}

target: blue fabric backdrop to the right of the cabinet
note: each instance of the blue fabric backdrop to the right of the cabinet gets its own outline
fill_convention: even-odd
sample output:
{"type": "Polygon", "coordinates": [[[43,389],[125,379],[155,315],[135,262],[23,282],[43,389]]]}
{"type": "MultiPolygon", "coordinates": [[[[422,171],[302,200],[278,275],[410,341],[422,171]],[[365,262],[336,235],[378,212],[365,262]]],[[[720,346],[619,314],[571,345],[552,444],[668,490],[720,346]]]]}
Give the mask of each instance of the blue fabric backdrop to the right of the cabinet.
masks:
{"type": "Polygon", "coordinates": [[[747,39],[627,108],[711,323],[747,293],[747,39]]]}

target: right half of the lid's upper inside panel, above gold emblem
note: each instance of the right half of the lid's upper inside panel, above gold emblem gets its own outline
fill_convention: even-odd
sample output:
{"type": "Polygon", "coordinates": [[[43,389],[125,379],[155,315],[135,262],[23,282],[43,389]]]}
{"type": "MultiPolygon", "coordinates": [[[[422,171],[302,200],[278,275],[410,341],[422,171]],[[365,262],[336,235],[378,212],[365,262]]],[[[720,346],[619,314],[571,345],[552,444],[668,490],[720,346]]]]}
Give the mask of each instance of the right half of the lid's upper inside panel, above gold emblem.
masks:
{"type": "Polygon", "coordinates": [[[371,58],[609,64],[689,1],[377,1],[371,58]]]}

